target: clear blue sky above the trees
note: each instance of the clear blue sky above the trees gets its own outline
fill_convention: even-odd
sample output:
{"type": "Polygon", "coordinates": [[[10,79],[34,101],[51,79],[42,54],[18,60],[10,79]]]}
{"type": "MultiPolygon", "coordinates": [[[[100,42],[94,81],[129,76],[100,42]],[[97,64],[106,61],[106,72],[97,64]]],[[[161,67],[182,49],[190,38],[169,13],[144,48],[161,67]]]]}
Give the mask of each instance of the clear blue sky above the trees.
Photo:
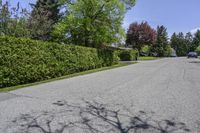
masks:
{"type": "MultiPolygon", "coordinates": [[[[17,0],[9,1],[12,5],[17,3],[17,0]]],[[[23,7],[35,1],[20,0],[23,7]]],[[[135,21],[147,21],[154,28],[164,25],[169,35],[194,31],[200,28],[200,0],[137,0],[136,6],[126,14],[124,28],[135,21]]]]}

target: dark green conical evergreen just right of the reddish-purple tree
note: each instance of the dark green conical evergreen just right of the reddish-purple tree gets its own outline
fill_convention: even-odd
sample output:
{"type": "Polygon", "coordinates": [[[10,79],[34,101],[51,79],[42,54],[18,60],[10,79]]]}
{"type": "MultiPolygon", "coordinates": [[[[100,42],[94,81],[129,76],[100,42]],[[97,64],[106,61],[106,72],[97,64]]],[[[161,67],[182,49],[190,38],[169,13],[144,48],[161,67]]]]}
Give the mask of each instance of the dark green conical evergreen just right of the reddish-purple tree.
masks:
{"type": "Polygon", "coordinates": [[[157,27],[156,44],[152,46],[152,51],[159,57],[170,56],[167,28],[163,25],[157,27]]]}

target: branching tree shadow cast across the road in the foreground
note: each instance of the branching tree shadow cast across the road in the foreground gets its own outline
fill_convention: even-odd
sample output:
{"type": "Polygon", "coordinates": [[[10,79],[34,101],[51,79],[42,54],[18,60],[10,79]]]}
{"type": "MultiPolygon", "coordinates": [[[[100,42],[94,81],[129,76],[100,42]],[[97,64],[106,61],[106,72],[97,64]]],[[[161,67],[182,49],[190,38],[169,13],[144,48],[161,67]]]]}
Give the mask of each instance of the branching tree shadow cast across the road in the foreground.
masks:
{"type": "Polygon", "coordinates": [[[185,123],[175,119],[154,119],[154,113],[133,114],[120,106],[115,109],[97,102],[84,105],[53,103],[59,110],[23,114],[12,121],[8,130],[14,133],[184,133],[185,123]]]}

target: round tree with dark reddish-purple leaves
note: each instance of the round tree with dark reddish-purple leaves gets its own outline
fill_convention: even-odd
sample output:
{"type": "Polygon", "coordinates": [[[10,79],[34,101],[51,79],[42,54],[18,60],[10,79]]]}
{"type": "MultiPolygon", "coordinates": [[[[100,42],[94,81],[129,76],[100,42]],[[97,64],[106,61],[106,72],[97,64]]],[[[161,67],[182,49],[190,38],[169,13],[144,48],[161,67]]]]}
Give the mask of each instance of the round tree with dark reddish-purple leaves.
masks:
{"type": "Polygon", "coordinates": [[[126,45],[141,51],[144,45],[155,44],[156,31],[147,22],[132,23],[127,32],[126,45]]]}

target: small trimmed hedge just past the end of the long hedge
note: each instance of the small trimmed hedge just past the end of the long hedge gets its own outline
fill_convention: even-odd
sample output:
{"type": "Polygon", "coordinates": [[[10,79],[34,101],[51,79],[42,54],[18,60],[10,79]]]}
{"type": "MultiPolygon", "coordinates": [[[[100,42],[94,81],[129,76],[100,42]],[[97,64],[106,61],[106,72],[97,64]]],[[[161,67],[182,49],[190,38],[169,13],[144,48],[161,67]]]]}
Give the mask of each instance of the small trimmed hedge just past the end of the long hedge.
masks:
{"type": "Polygon", "coordinates": [[[119,57],[121,61],[134,61],[138,58],[138,52],[136,50],[121,50],[119,57]]]}

